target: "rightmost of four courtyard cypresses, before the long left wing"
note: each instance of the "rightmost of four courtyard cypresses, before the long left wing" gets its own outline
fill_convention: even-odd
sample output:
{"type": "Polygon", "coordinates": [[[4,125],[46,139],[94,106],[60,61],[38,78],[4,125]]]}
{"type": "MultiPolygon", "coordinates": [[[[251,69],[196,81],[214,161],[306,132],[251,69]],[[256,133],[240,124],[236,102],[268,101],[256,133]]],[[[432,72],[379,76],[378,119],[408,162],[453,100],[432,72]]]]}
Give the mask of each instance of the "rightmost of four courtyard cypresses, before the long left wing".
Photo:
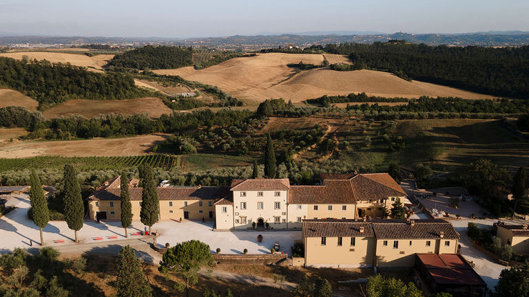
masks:
{"type": "Polygon", "coordinates": [[[142,173],[143,190],[141,192],[140,219],[144,225],[149,226],[150,234],[152,225],[158,221],[160,202],[158,201],[158,191],[156,190],[152,167],[149,165],[143,166],[142,173]]]}

